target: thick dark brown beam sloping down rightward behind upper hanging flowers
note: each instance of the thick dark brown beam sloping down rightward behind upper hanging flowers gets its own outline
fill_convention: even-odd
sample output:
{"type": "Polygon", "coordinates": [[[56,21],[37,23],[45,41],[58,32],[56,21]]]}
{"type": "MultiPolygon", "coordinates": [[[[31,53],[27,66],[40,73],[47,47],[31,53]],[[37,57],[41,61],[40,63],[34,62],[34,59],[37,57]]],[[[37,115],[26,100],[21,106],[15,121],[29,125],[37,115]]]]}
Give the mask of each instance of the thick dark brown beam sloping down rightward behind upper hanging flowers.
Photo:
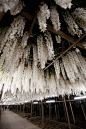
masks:
{"type": "MultiPolygon", "coordinates": [[[[28,19],[30,21],[33,20],[33,16],[31,14],[29,14],[28,12],[24,11],[24,10],[20,13],[20,15],[22,15],[23,17],[25,17],[26,19],[28,19]]],[[[38,24],[38,21],[36,20],[35,23],[38,24]]],[[[64,32],[62,32],[60,30],[59,31],[55,31],[53,26],[51,26],[50,24],[47,24],[47,29],[49,31],[53,32],[56,35],[60,35],[63,39],[65,39],[65,40],[67,40],[67,41],[69,41],[71,43],[76,42],[75,39],[73,39],[69,35],[65,34],[64,32]]],[[[78,42],[77,46],[85,50],[85,48],[82,46],[82,44],[80,42],[78,42]]]]}

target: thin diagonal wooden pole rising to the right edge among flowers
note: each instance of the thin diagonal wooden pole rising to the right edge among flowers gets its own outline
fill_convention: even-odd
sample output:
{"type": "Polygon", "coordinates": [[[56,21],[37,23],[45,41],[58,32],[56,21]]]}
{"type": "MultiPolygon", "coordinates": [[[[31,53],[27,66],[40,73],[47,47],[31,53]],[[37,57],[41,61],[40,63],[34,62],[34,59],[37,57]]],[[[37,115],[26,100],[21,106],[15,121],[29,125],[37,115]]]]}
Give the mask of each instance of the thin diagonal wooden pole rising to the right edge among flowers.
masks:
{"type": "Polygon", "coordinates": [[[86,33],[83,34],[75,43],[73,43],[69,48],[67,48],[60,56],[58,56],[55,60],[52,61],[44,70],[48,69],[56,60],[61,58],[65,53],[67,53],[72,47],[74,47],[81,39],[86,36],[86,33]]]}

